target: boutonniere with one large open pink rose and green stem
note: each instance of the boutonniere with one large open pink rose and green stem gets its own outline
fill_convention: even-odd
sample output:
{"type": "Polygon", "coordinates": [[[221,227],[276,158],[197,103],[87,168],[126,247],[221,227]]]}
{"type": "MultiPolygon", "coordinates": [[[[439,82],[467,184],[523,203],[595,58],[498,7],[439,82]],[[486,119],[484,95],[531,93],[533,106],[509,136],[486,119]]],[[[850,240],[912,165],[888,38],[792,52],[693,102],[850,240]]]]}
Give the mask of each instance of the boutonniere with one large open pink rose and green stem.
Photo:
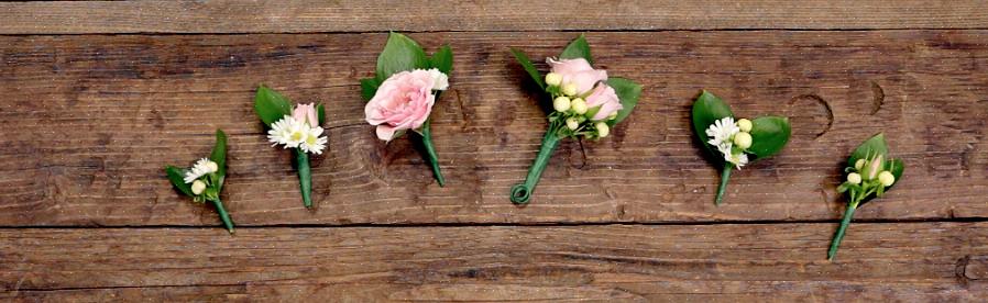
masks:
{"type": "Polygon", "coordinates": [[[449,45],[430,57],[411,38],[391,33],[377,56],[375,77],[360,80],[361,94],[367,100],[364,114],[367,123],[377,126],[377,138],[391,142],[407,131],[415,133],[440,187],[446,180],[432,145],[429,114],[439,93],[449,88],[452,68],[453,52],[449,45]]]}

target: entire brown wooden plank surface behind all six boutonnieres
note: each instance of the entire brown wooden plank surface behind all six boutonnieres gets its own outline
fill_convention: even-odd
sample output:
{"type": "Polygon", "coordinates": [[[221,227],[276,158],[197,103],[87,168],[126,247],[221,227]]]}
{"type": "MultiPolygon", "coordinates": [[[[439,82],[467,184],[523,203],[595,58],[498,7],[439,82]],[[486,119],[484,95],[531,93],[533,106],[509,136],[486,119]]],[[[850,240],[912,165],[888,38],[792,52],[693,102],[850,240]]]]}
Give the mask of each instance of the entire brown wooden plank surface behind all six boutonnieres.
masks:
{"type": "MultiPolygon", "coordinates": [[[[988,296],[986,1],[0,1],[0,299],[13,301],[981,301],[988,296]],[[387,31],[454,50],[432,128],[448,186],[363,121],[387,31]],[[545,131],[507,52],[586,32],[645,86],[508,202],[545,131]],[[252,110],[326,102],[301,206],[252,110]],[[701,89],[791,117],[734,175],[692,142],[701,89]],[[162,169],[230,135],[226,205],[162,169]],[[902,182],[835,261],[842,161],[885,132],[902,182]]],[[[539,65],[545,69],[545,65],[539,65]]]]}

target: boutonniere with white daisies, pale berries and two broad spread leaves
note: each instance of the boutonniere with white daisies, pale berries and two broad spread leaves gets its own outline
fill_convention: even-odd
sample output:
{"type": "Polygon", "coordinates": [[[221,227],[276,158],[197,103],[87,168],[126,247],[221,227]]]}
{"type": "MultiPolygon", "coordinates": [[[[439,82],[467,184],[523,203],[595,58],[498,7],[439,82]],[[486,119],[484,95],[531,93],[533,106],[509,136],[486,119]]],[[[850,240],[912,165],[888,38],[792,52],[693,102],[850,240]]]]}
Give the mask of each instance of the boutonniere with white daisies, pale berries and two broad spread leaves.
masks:
{"type": "Polygon", "coordinates": [[[735,120],[726,102],[704,90],[693,102],[693,132],[721,168],[721,186],[714,200],[720,205],[731,171],[781,152],[791,128],[784,116],[735,120]]]}

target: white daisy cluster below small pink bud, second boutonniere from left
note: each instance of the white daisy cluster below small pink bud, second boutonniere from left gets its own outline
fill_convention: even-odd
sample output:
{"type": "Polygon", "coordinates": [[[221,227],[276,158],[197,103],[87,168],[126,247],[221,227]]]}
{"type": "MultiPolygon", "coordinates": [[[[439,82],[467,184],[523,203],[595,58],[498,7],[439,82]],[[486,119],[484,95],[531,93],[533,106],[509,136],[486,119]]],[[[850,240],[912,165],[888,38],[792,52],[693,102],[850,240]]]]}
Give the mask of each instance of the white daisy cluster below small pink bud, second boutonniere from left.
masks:
{"type": "Polygon", "coordinates": [[[271,124],[267,141],[272,143],[271,146],[281,144],[285,148],[301,148],[303,152],[320,155],[328,141],[322,132],[320,126],[312,127],[308,123],[285,115],[271,124]]]}

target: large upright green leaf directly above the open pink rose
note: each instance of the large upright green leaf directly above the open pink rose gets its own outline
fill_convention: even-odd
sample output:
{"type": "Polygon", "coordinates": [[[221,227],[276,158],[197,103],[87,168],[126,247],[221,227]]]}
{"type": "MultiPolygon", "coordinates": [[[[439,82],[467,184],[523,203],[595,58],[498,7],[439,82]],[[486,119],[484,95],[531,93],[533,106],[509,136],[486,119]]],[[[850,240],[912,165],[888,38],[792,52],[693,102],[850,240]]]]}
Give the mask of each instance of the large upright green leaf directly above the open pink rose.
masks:
{"type": "Polygon", "coordinates": [[[398,33],[387,36],[384,50],[377,56],[377,80],[384,80],[391,75],[413,70],[416,68],[429,68],[429,57],[414,40],[398,33]]]}

